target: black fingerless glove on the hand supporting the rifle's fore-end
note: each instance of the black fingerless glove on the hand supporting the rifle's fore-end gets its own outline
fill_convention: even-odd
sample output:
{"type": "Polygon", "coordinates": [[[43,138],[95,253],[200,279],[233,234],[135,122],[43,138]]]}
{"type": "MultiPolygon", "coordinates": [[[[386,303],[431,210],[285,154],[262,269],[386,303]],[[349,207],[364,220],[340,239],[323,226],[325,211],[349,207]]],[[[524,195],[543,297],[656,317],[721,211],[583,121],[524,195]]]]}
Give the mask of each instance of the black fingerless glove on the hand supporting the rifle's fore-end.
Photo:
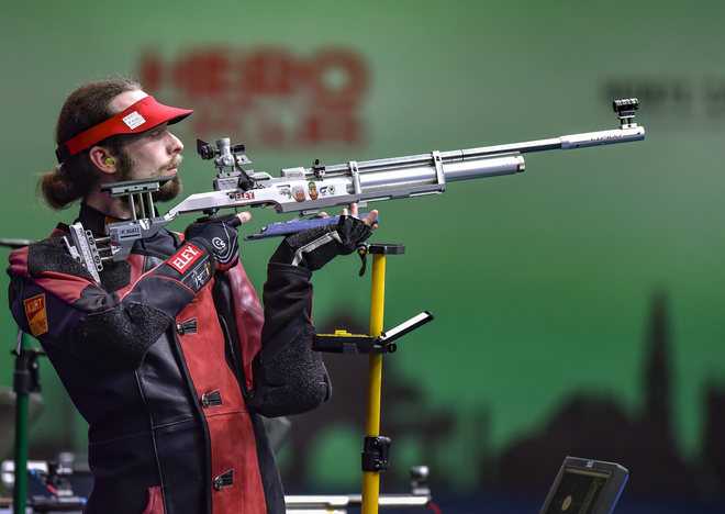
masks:
{"type": "Polygon", "coordinates": [[[311,228],[287,236],[269,262],[299,266],[314,271],[338,255],[355,252],[371,233],[372,231],[362,220],[339,216],[336,225],[311,228]]]}

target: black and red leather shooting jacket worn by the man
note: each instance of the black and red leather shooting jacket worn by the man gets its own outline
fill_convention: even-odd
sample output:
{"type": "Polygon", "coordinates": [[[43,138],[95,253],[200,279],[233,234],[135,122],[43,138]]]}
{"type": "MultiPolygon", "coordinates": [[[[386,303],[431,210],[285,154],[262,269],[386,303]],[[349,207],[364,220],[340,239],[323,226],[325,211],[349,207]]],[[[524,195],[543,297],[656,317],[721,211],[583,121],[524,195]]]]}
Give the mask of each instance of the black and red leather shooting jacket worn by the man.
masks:
{"type": "MultiPolygon", "coordinates": [[[[79,220],[102,234],[98,211],[79,220]]],[[[86,512],[283,513],[260,415],[330,395],[311,351],[310,272],[270,265],[263,316],[241,264],[211,277],[212,256],[193,247],[193,272],[177,272],[189,260],[177,234],[137,242],[97,284],[66,233],[11,254],[9,297],[89,424],[86,512]]]]}

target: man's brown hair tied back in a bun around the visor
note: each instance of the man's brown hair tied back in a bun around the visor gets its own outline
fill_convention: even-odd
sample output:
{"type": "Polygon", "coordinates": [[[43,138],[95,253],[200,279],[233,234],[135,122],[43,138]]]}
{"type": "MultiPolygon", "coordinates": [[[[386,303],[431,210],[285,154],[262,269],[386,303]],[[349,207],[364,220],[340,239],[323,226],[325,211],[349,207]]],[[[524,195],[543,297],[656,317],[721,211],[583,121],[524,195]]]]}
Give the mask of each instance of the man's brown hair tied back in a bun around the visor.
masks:
{"type": "MultiPolygon", "coordinates": [[[[127,78],[110,78],[86,83],[71,92],[60,109],[55,130],[56,144],[65,143],[77,134],[111,118],[111,100],[125,91],[141,89],[141,85],[127,78]]],[[[102,145],[116,156],[121,155],[121,137],[102,141],[102,145]]],[[[40,193],[53,209],[69,206],[88,194],[100,176],[91,163],[89,152],[83,150],[67,158],[53,171],[44,174],[38,182],[40,193]]]]}

